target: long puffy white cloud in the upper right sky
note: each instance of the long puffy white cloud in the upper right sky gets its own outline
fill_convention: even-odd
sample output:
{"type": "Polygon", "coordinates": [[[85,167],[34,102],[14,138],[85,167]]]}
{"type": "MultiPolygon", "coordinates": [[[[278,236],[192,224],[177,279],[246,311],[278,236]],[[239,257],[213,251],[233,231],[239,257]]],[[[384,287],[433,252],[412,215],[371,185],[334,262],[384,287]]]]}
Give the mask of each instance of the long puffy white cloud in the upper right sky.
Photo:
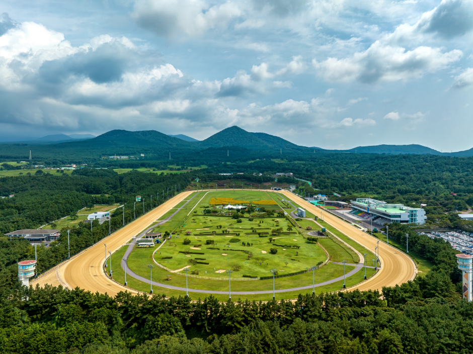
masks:
{"type": "Polygon", "coordinates": [[[321,62],[313,59],[312,64],[318,75],[327,81],[373,83],[418,78],[446,68],[461,56],[461,50],[457,49],[445,53],[440,48],[425,46],[406,50],[376,41],[351,57],[328,58],[321,62]]]}

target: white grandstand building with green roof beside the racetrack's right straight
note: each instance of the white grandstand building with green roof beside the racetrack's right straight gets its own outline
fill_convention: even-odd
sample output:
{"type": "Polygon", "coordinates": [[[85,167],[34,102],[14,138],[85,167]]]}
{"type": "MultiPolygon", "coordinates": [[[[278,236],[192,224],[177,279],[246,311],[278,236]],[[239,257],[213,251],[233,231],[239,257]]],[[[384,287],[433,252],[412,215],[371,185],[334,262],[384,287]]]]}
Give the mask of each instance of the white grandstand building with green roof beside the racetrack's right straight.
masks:
{"type": "Polygon", "coordinates": [[[385,223],[425,224],[426,216],[422,208],[410,208],[404,204],[388,204],[371,198],[357,198],[356,201],[350,202],[351,213],[381,225],[385,223]]]}

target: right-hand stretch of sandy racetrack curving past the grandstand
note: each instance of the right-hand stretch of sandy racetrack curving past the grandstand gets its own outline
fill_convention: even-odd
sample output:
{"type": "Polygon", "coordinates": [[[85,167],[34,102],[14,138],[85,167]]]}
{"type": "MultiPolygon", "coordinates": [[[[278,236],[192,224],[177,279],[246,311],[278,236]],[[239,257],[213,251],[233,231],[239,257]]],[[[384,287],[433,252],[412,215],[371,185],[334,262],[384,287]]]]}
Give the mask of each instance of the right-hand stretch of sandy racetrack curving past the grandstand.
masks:
{"type": "MultiPolygon", "coordinates": [[[[278,193],[287,196],[302,208],[318,217],[320,217],[322,211],[324,221],[374,253],[374,247],[377,246],[377,238],[351,226],[333,214],[308,203],[304,199],[299,198],[290,192],[278,191],[278,193]]],[[[407,254],[404,254],[400,250],[383,242],[379,242],[379,259],[381,260],[381,269],[379,272],[368,281],[355,287],[351,287],[350,290],[370,289],[381,291],[383,286],[395,286],[396,284],[401,285],[409,280],[413,280],[417,274],[415,263],[407,254]]],[[[371,262],[371,259],[368,259],[367,264],[369,264],[369,262],[371,262]]]]}

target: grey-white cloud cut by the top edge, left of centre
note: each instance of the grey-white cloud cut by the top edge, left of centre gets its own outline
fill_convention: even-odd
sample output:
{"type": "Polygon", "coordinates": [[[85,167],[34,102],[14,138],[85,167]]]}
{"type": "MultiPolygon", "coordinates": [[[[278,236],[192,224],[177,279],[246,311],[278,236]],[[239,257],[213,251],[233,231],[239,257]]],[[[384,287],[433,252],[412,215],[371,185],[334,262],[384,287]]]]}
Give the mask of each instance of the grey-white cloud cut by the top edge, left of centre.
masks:
{"type": "Polygon", "coordinates": [[[202,0],[137,0],[132,14],[142,28],[159,36],[194,37],[242,15],[238,3],[208,5],[202,0]]]}

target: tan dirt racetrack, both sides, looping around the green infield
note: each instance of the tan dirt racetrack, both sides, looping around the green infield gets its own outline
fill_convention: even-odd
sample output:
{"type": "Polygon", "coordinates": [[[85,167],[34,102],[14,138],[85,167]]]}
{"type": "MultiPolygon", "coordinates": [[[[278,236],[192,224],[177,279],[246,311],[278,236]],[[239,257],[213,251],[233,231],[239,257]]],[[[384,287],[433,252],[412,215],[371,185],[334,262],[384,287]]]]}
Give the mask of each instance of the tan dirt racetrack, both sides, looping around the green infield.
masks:
{"type": "MultiPolygon", "coordinates": [[[[91,292],[108,293],[112,296],[120,291],[130,291],[130,289],[113,282],[104,275],[102,271],[102,265],[105,259],[104,243],[107,244],[107,253],[109,250],[112,251],[113,257],[113,252],[128,242],[132,236],[138,235],[146,227],[151,225],[151,223],[162,217],[171,208],[175,207],[192,193],[193,192],[183,192],[177,195],[166,203],[126,225],[122,229],[116,231],[101,242],[93,245],[82,253],[73,256],[69,261],[60,264],[51,272],[31,282],[31,285],[63,285],[72,289],[79,287],[81,289],[90,290],[91,292]]],[[[279,191],[279,193],[292,199],[314,215],[320,215],[321,209],[294,194],[287,191],[279,191]]],[[[326,222],[374,252],[374,247],[377,245],[376,238],[362,232],[354,226],[351,226],[327,211],[322,211],[322,213],[326,222]]],[[[383,286],[402,284],[414,279],[417,269],[411,258],[396,248],[388,246],[382,242],[379,242],[379,248],[379,258],[381,260],[380,271],[369,280],[350,288],[350,290],[381,290],[383,286]]]]}

